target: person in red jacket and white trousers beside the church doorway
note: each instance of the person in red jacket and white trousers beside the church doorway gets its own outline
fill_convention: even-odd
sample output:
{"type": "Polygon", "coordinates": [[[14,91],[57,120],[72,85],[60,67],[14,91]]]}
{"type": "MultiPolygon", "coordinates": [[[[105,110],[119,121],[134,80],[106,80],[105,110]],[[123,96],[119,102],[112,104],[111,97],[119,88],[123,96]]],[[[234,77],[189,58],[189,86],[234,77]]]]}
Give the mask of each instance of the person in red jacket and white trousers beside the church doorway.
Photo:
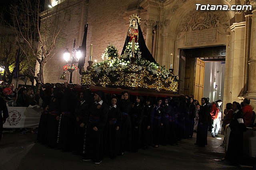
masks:
{"type": "Polygon", "coordinates": [[[218,100],[212,105],[210,115],[212,117],[212,137],[218,137],[218,131],[220,130],[220,120],[221,120],[221,106],[222,101],[218,100]],[[216,126],[216,128],[215,128],[216,126]],[[215,128],[215,129],[214,129],[215,128]]]}

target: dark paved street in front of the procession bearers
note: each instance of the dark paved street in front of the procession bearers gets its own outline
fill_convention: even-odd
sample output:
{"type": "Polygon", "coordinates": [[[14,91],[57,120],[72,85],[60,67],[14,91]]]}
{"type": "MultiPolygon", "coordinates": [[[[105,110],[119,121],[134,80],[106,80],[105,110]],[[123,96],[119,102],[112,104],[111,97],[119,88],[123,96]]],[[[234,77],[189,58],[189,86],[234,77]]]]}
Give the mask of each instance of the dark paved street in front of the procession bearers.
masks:
{"type": "MultiPolygon", "coordinates": [[[[170,170],[219,170],[240,169],[221,161],[224,148],[222,140],[208,133],[208,146],[194,145],[192,139],[183,139],[177,146],[150,147],[136,153],[126,152],[116,160],[105,157],[101,164],[82,161],[71,152],[48,149],[34,143],[36,134],[4,133],[0,143],[0,170],[87,170],[87,169],[170,169],[170,170]]],[[[223,138],[223,136],[221,136],[223,138]]],[[[252,169],[254,160],[248,160],[242,169],[252,169]]]]}

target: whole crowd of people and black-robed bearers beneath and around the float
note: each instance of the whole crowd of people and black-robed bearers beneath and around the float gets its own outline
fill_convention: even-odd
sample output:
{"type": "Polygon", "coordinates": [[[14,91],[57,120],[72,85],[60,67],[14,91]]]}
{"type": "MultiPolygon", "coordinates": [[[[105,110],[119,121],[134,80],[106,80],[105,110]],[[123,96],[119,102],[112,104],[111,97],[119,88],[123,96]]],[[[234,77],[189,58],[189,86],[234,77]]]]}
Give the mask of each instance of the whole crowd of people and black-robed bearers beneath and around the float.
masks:
{"type": "MultiPolygon", "coordinates": [[[[200,105],[188,95],[156,98],[132,96],[127,91],[120,95],[92,93],[67,84],[64,88],[38,84],[36,95],[31,88],[26,91],[25,87],[18,87],[12,94],[6,93],[5,88],[0,88],[1,99],[12,100],[14,106],[43,108],[38,142],[48,148],[80,154],[83,160],[93,160],[95,164],[104,155],[115,159],[126,151],[178,145],[182,138],[192,138],[194,132],[195,144],[204,147],[208,130],[212,137],[218,137],[222,119],[222,101],[209,103],[209,98],[202,98],[200,105]]],[[[5,108],[1,109],[6,113],[5,108]]],[[[243,132],[246,127],[255,127],[255,113],[248,98],[241,105],[227,103],[223,113],[223,130],[228,124],[231,128],[226,159],[238,164],[243,132]]],[[[6,118],[6,114],[4,118],[1,115],[1,122],[6,118]]]]}

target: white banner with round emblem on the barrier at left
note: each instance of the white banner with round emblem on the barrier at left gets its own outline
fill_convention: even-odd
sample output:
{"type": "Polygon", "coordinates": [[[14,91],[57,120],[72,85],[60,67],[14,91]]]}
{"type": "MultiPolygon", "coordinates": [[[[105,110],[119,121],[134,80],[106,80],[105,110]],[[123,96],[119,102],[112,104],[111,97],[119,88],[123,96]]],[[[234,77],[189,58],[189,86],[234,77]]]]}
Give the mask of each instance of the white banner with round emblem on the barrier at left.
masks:
{"type": "Polygon", "coordinates": [[[32,128],[38,127],[42,108],[7,107],[9,117],[4,123],[4,128],[32,128]]]}

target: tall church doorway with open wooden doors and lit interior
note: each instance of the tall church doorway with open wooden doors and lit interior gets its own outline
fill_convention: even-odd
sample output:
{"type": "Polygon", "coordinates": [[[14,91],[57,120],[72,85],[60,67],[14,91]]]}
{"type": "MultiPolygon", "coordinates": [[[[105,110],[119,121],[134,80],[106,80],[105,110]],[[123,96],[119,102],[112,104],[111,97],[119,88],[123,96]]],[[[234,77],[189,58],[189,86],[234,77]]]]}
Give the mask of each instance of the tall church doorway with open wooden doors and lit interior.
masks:
{"type": "Polygon", "coordinates": [[[179,93],[223,101],[226,46],[180,50],[179,93]]]}

